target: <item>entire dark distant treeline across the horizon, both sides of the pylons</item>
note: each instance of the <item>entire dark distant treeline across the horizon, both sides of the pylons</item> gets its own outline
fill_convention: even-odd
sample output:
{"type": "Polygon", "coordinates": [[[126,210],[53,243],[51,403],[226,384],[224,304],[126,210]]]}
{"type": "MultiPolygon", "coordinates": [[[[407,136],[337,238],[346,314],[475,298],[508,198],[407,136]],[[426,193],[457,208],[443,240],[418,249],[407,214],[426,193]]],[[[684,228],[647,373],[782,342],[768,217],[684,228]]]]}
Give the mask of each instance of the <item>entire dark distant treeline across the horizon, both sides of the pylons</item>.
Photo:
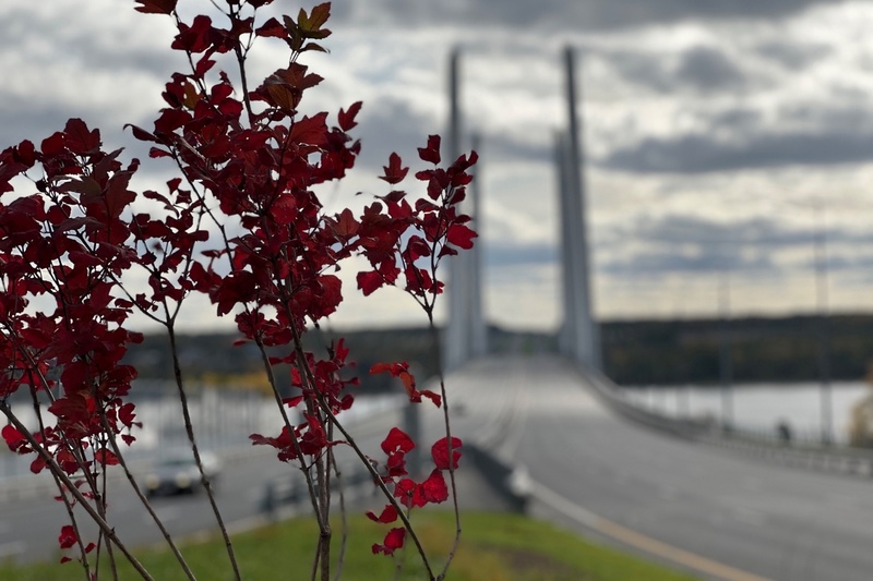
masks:
{"type": "MultiPolygon", "coordinates": [[[[392,388],[387,375],[371,376],[378,362],[407,361],[421,380],[436,374],[436,350],[427,328],[395,328],[309,334],[308,349],[339,336],[351,350],[356,366],[349,374],[361,378],[362,391],[392,388]]],[[[622,320],[600,326],[603,371],[620,385],[718,384],[727,364],[736,383],[811,382],[826,362],[835,380],[860,380],[873,362],[873,315],[833,315],[781,318],[622,320]],[[824,350],[823,350],[824,349],[824,350]],[[723,351],[722,351],[723,350],[723,351]],[[822,354],[826,355],[823,360],[822,354]]],[[[256,376],[261,358],[253,344],[234,347],[236,334],[179,337],[179,355],[187,377],[256,376]]],[[[494,352],[554,352],[554,336],[517,332],[492,327],[494,352]]],[[[166,339],[146,336],[132,346],[128,361],[140,376],[170,379],[172,362],[166,339]]]]}

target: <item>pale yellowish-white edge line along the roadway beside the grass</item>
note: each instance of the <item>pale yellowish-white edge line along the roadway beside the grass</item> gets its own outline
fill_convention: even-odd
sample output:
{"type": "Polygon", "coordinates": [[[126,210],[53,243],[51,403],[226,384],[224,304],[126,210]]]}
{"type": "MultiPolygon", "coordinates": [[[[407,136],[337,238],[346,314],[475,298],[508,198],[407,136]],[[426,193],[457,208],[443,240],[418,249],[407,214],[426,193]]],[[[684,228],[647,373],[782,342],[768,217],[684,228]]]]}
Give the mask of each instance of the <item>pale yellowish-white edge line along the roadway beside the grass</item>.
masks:
{"type": "Polygon", "coordinates": [[[737,569],[736,567],[695,555],[694,553],[668,545],[667,543],[657,541],[650,536],[627,529],[626,526],[622,526],[617,522],[595,515],[590,510],[578,506],[576,503],[564,498],[539,483],[534,485],[534,496],[559,512],[600,534],[644,550],[649,555],[662,557],[689,569],[715,576],[723,581],[770,581],[765,577],[760,577],[737,569]]]}

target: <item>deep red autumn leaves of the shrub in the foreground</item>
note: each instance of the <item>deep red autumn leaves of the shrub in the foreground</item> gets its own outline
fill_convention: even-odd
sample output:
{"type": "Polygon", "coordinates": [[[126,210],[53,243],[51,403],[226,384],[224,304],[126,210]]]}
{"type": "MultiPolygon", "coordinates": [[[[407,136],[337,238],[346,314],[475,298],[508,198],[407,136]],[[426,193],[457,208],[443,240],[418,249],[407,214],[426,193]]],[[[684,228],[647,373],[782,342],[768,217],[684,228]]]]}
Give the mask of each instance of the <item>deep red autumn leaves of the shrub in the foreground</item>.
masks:
{"type": "MultiPolygon", "coordinates": [[[[32,471],[52,471],[68,508],[97,506],[107,544],[117,540],[100,520],[107,505],[97,476],[106,467],[123,467],[117,443],[134,444],[131,431],[142,427],[129,400],[136,371],[123,363],[128,346],[142,340],[130,328],[134,313],[163,325],[171,342],[193,293],[207,296],[217,317],[234,317],[241,342],[263,353],[282,410],[272,431],[278,435],[253,434],[251,441],[296,462],[315,498],[310,474],[325,480],[334,447],[356,446],[334,436],[342,431],[337,416],[354,404],[349,349],[339,340],[316,355],[302,341],[342,306],[335,273],[362,257],[369,267],[356,280],[364,295],[397,286],[432,325],[444,289],[440,262],[471,247],[476,237],[458,207],[476,154],[440,168],[435,135],[418,149],[433,166],[415,173],[421,195],[392,190],[360,216],[349,208],[324,209],[316,186],[342,180],[360,153],[349,132],[361,102],[340,109],[336,121],[327,111],[299,112],[307,92],[323,78],[298,58],[324,50],[316,41],[331,35],[324,27],[331,4],[255,28],[254,13],[271,3],[228,0],[228,24],[222,27],[202,14],[184,20],[177,0],[135,0],[139,12],[169,16],[177,27],[171,48],[191,69],[166,83],[165,106],[152,129],[128,125],[148,144],[154,164],[177,172],[166,191],[131,190],[140,160],[122,164],[121,150],[105,150],[99,130],[80,119],[39,142],[0,152],[0,411],[9,422],[2,437],[10,450],[31,457],[32,471]],[[250,11],[246,16],[243,9],[250,11]],[[287,66],[258,84],[246,71],[255,39],[284,43],[290,51],[287,66]],[[224,58],[240,66],[239,86],[216,66],[224,58]],[[145,285],[128,287],[136,277],[145,285]],[[291,367],[290,385],[276,379],[279,366],[291,367]],[[8,403],[19,391],[50,401],[50,415],[40,416],[36,429],[25,427],[8,403]],[[288,416],[286,408],[300,414],[288,416]]],[[[395,187],[408,172],[393,153],[380,178],[395,187]]],[[[406,363],[379,363],[370,372],[397,377],[411,403],[428,398],[442,407],[444,391],[419,390],[406,363]]],[[[457,468],[461,440],[451,439],[451,451],[447,441],[433,445],[436,468],[421,482],[406,469],[406,455],[416,446],[411,438],[394,428],[383,441],[385,470],[370,469],[390,504],[380,516],[368,516],[383,523],[399,518],[404,528],[388,531],[374,553],[391,555],[404,545],[409,523],[397,503],[411,508],[449,498],[443,472],[457,468]]],[[[64,525],[58,542],[63,549],[84,546],[80,560],[87,566],[86,554],[104,545],[80,544],[80,536],[75,524],[64,525]]]]}

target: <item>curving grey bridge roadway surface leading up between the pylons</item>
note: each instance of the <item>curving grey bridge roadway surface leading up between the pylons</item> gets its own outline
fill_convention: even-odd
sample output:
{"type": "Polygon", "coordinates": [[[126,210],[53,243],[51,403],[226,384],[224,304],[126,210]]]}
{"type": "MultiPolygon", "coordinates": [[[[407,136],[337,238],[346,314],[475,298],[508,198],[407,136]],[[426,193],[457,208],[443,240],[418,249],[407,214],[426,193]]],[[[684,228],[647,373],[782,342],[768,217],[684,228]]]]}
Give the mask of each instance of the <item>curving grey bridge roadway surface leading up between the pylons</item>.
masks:
{"type": "Polygon", "coordinates": [[[455,431],[526,469],[535,513],[706,579],[873,579],[873,482],[654,432],[587,383],[548,356],[474,362],[449,380],[455,431]]]}

